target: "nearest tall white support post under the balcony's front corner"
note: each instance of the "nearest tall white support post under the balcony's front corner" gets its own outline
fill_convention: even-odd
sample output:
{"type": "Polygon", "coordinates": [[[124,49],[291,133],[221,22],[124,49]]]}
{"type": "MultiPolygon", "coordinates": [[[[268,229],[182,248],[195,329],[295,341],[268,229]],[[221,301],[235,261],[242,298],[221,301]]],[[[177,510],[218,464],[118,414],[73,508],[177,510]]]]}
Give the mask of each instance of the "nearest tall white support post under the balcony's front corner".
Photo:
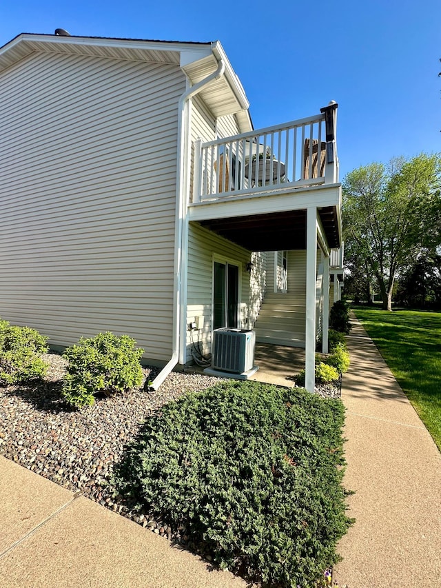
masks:
{"type": "Polygon", "coordinates": [[[307,209],[305,388],[314,392],[316,370],[317,209],[307,209]]]}

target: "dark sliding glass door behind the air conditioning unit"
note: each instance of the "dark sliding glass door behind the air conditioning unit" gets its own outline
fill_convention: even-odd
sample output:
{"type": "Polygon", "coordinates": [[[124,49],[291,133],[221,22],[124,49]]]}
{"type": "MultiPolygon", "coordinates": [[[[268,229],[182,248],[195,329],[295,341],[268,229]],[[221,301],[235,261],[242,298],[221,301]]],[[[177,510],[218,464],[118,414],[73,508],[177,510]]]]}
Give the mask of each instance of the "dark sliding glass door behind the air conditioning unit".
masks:
{"type": "Polygon", "coordinates": [[[237,327],[239,310],[239,268],[232,263],[214,262],[213,328],[237,327]]]}

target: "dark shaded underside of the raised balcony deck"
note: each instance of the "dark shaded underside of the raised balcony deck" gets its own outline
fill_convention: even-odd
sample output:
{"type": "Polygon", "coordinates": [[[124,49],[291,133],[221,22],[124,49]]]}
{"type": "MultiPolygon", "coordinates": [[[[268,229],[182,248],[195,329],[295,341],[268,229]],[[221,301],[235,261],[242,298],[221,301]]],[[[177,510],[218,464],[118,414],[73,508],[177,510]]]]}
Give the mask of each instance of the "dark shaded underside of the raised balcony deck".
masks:
{"type": "MultiPolygon", "coordinates": [[[[318,208],[329,247],[339,247],[336,208],[318,208]]],[[[203,227],[249,251],[306,249],[306,210],[200,221],[203,227]]]]}

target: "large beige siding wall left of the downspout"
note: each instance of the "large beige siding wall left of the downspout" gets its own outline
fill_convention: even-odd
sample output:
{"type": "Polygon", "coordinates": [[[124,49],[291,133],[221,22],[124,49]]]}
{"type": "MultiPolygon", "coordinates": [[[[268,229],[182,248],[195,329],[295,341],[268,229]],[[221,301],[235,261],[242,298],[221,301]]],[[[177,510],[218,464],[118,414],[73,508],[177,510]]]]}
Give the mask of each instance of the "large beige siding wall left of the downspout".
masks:
{"type": "Polygon", "coordinates": [[[177,65],[32,54],[1,77],[0,316],[172,353],[177,65]]]}

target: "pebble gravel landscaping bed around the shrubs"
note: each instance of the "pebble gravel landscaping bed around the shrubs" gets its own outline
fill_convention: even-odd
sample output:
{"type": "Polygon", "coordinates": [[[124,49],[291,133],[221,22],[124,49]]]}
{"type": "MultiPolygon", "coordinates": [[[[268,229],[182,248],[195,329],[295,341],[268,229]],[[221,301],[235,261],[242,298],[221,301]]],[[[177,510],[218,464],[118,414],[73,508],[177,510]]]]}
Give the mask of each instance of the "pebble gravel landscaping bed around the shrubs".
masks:
{"type": "MultiPolygon", "coordinates": [[[[157,392],[141,387],[97,398],[92,407],[70,409],[61,399],[65,360],[58,354],[43,358],[50,365],[44,381],[0,387],[0,454],[171,539],[172,530],[163,521],[153,520],[147,511],[133,511],[123,496],[115,498],[113,465],[121,460],[125,445],[136,438],[143,421],[161,405],[222,380],[172,372],[157,392]]],[[[147,367],[143,372],[149,381],[158,369],[147,367]]],[[[340,396],[336,387],[317,392],[340,396]]],[[[190,540],[185,529],[175,530],[173,538],[182,543],[190,540]]]]}

